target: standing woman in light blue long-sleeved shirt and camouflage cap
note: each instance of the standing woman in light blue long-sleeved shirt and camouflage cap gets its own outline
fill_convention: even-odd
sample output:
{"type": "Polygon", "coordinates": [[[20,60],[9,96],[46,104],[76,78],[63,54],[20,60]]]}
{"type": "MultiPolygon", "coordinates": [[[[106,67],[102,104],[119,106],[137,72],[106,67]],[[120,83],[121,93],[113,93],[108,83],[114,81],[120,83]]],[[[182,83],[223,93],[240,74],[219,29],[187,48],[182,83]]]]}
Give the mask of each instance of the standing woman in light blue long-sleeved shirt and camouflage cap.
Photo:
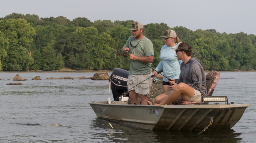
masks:
{"type": "MultiPolygon", "coordinates": [[[[177,55],[175,54],[175,50],[171,50],[176,48],[177,44],[179,43],[179,38],[177,37],[175,31],[173,30],[166,30],[164,35],[165,45],[162,46],[160,51],[160,63],[156,67],[156,71],[164,70],[164,76],[168,77],[169,79],[179,79],[179,75],[181,73],[181,60],[177,59],[177,55]]],[[[153,75],[157,76],[157,72],[154,71],[153,75]]],[[[169,92],[170,86],[168,79],[163,78],[163,90],[165,92],[169,92]]]]}

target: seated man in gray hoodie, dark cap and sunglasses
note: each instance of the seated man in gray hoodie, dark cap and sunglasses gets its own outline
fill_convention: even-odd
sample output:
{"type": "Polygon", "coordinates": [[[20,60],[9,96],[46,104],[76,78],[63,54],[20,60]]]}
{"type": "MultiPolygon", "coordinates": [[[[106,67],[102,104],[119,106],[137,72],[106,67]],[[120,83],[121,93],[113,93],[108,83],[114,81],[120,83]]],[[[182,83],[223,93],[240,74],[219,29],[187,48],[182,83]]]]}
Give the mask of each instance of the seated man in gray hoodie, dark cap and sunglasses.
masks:
{"type": "Polygon", "coordinates": [[[186,101],[200,102],[206,94],[206,78],[200,60],[191,58],[192,47],[186,42],[177,45],[176,55],[178,60],[182,60],[181,74],[178,80],[169,81],[171,91],[158,95],[154,103],[147,102],[149,105],[171,105],[177,99],[186,101]]]}

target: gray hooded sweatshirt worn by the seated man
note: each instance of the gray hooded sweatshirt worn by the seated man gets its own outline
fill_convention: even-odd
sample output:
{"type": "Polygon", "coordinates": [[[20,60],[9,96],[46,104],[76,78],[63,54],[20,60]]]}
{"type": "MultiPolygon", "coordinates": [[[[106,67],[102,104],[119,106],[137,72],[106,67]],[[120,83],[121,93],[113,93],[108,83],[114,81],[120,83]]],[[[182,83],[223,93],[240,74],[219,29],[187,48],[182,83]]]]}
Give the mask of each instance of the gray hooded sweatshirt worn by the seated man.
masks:
{"type": "Polygon", "coordinates": [[[206,78],[200,60],[190,58],[186,64],[181,63],[181,74],[175,83],[186,83],[195,90],[200,91],[201,97],[207,96],[206,78]]]}

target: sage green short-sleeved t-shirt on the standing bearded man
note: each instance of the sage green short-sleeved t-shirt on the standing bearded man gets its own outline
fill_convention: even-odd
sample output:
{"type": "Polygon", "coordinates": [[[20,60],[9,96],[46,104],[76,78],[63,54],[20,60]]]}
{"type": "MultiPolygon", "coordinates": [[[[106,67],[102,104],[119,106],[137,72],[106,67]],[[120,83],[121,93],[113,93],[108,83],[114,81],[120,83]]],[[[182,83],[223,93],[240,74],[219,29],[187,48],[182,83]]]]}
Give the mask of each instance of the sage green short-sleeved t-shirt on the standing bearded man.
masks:
{"type": "MultiPolygon", "coordinates": [[[[133,36],[129,37],[124,47],[129,48],[129,53],[134,54],[138,57],[148,57],[148,56],[154,56],[154,48],[151,40],[149,40],[147,37],[143,37],[136,48],[130,46],[130,42],[132,46],[136,46],[139,42],[136,38],[133,36]],[[132,41],[132,42],[131,42],[132,41]]],[[[150,62],[145,62],[149,67],[151,67],[150,62]]],[[[145,64],[142,64],[139,61],[136,60],[130,60],[130,72],[129,75],[145,75],[152,72],[151,68],[146,66],[145,64]]]]}

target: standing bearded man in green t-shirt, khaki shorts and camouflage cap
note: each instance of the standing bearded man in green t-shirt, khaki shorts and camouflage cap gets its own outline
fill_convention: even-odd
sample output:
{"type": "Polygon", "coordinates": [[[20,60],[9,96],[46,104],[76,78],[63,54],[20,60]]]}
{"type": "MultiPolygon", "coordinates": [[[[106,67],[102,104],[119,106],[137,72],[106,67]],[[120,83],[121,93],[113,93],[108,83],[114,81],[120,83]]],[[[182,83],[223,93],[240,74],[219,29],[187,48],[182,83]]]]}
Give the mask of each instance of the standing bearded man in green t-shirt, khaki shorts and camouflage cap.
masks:
{"type": "MultiPolygon", "coordinates": [[[[123,47],[124,53],[129,54],[130,59],[130,72],[128,76],[128,90],[140,82],[148,79],[152,75],[151,63],[154,59],[154,48],[151,40],[143,35],[143,24],[141,22],[134,22],[132,24],[132,36],[128,38],[126,44],[123,47]],[[147,64],[141,63],[141,62],[147,64]]],[[[139,105],[137,94],[141,98],[141,105],[147,105],[147,95],[151,87],[152,78],[137,85],[135,88],[129,90],[129,96],[132,101],[132,105],[136,103],[139,105]]]]}

